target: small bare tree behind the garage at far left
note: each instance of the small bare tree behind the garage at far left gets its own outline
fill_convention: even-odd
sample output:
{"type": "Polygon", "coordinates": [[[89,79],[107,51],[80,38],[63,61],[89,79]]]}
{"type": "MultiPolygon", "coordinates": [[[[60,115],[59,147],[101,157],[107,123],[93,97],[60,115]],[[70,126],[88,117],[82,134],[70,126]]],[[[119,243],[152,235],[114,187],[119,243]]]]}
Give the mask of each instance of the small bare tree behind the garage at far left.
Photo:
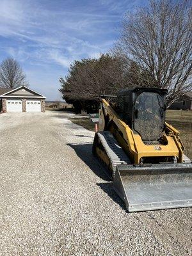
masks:
{"type": "Polygon", "coordinates": [[[0,65],[0,86],[16,88],[21,85],[28,85],[26,75],[16,60],[6,58],[0,65]]]}

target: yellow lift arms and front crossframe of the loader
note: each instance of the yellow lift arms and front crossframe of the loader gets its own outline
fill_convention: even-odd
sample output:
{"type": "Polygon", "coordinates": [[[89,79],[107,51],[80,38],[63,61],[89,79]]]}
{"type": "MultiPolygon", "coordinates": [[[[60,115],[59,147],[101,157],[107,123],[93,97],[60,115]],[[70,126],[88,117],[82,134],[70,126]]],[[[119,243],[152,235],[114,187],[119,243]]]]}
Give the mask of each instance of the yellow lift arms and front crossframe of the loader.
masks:
{"type": "MultiPolygon", "coordinates": [[[[108,120],[113,120],[118,129],[111,126],[110,132],[115,136],[118,143],[124,148],[125,152],[131,157],[134,164],[139,164],[141,157],[166,157],[175,156],[178,163],[182,163],[182,152],[184,146],[179,138],[179,131],[172,125],[166,123],[166,132],[164,141],[166,145],[145,145],[139,134],[134,134],[129,127],[109,105],[106,99],[102,99],[102,108],[99,111],[99,131],[104,131],[106,116],[108,120]],[[120,135],[122,134],[122,135],[120,135]]],[[[109,121],[108,121],[109,122],[109,121]]]]}

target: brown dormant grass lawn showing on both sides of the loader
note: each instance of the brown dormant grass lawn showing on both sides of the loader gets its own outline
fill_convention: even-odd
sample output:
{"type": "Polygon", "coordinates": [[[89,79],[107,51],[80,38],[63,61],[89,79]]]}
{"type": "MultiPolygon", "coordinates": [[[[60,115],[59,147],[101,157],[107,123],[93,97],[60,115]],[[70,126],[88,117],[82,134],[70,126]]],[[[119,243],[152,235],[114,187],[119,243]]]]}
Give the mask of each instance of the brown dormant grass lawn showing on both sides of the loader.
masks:
{"type": "MultiPolygon", "coordinates": [[[[90,131],[95,131],[95,124],[90,118],[79,117],[69,118],[69,120],[90,131]]],[[[186,148],[185,154],[192,158],[192,111],[167,110],[166,122],[180,131],[180,138],[186,148]]]]}

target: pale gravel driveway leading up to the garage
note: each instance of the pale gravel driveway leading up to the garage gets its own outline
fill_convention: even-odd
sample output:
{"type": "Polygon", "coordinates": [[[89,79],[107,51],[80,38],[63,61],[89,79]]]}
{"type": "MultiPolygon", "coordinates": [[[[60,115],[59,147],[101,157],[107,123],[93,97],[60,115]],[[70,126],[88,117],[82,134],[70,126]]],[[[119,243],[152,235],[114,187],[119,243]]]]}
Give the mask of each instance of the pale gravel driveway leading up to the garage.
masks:
{"type": "Polygon", "coordinates": [[[191,209],[125,211],[72,116],[0,115],[0,255],[191,255],[191,209]]]}

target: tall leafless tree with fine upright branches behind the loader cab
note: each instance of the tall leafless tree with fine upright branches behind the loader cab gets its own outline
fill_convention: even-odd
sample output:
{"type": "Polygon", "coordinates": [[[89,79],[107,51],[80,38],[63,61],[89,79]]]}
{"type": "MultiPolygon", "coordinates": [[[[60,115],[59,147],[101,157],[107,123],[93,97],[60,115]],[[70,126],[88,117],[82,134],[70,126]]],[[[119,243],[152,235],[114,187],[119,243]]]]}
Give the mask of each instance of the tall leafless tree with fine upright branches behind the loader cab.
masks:
{"type": "Polygon", "coordinates": [[[168,89],[170,106],[192,88],[191,1],[152,0],[127,13],[115,53],[136,63],[143,86],[168,89]]]}

